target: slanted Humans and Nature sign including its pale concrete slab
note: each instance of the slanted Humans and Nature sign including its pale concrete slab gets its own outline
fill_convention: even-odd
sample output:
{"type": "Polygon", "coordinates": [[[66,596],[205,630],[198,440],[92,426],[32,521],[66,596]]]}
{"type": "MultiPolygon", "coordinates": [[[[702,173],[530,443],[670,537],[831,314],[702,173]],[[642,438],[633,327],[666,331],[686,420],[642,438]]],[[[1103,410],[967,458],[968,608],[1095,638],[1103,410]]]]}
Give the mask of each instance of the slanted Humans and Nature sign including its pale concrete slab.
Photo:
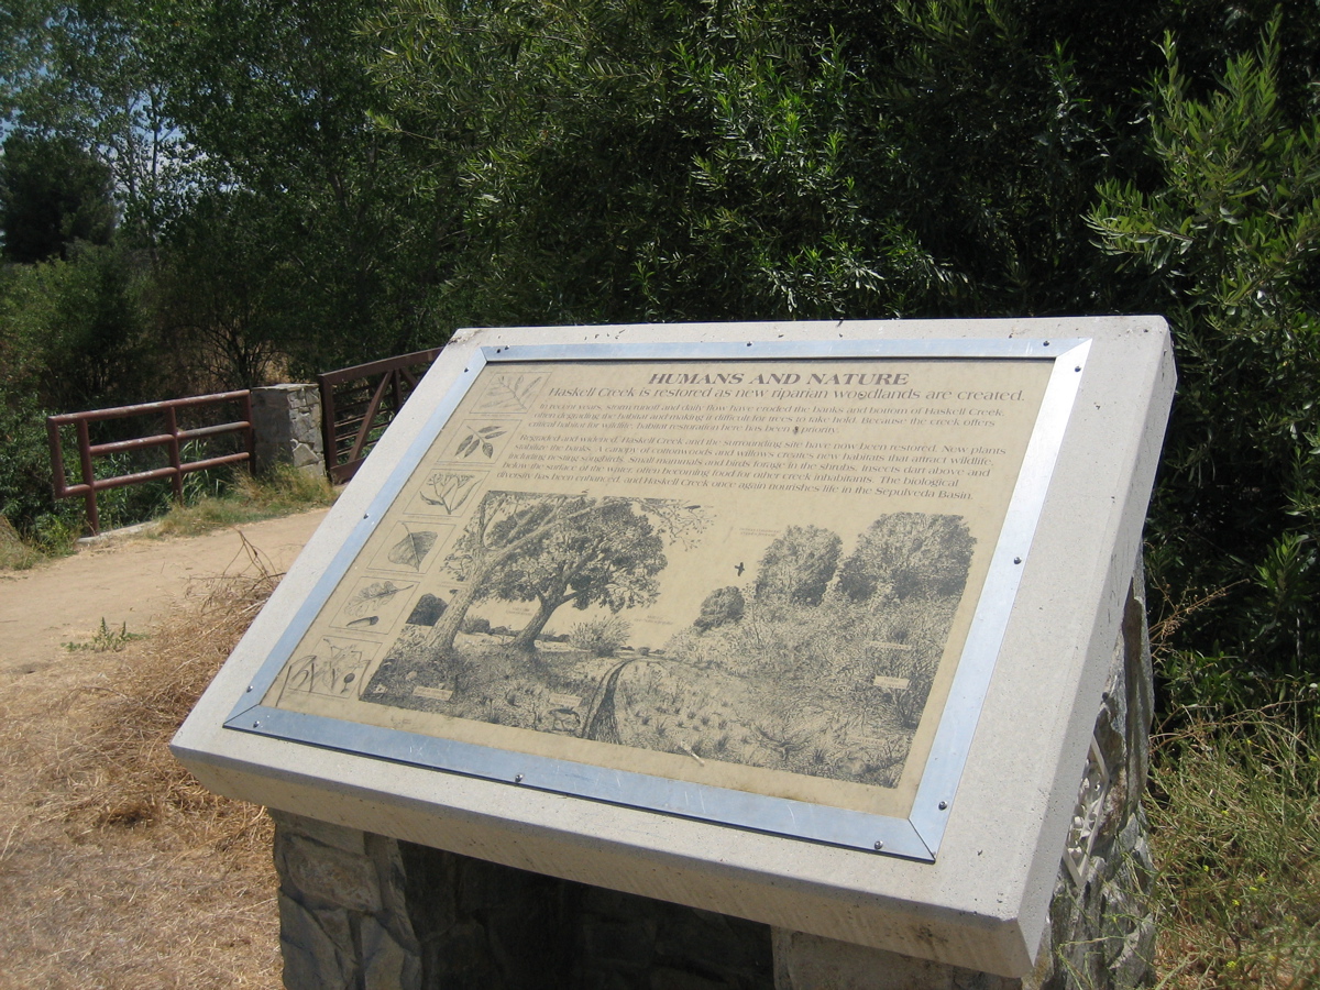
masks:
{"type": "MultiPolygon", "coordinates": [[[[791,858],[826,887],[840,880],[821,879],[825,859],[808,866],[813,846],[935,870],[997,671],[1026,656],[1023,642],[1097,607],[1047,609],[1045,589],[1022,591],[1051,499],[1085,491],[1078,511],[1122,519],[1127,564],[1074,577],[1102,573],[1109,589],[1119,581],[1110,570],[1130,574],[1154,450],[1137,458],[1131,441],[1111,457],[1098,445],[1115,422],[1163,416],[1167,396],[1131,389],[1155,388],[1167,360],[1159,321],[461,334],[176,748],[203,779],[304,814],[318,808],[281,804],[275,781],[317,792],[325,780],[321,813],[333,820],[354,818],[343,808],[363,807],[367,792],[393,808],[388,821],[420,822],[416,809],[433,805],[449,838],[425,841],[449,847],[484,842],[471,816],[487,834],[519,820],[540,853],[478,854],[587,882],[601,882],[603,861],[581,862],[572,843],[554,851],[552,836],[605,841],[622,828],[628,845],[642,829],[667,857],[700,858],[706,845],[723,863],[742,855],[734,836],[747,850],[792,842],[791,858]],[[1119,338],[1139,359],[1119,355],[1119,338]],[[1089,451],[1069,446],[1073,433],[1089,451]],[[1122,470],[1078,487],[1080,471],[1109,461],[1122,470]],[[1131,484],[1114,486],[1138,461],[1147,475],[1134,500],[1131,484]],[[1014,632],[1023,622],[1027,640],[1014,632]],[[220,722],[203,725],[218,706],[220,722]],[[327,752],[338,756],[315,755],[327,752]],[[333,795],[359,788],[333,810],[333,795]]],[[[1113,635],[1105,624],[1100,639],[1113,635]]],[[[1077,649],[1094,653],[1088,643],[1059,655],[1077,649]]],[[[1080,660],[1051,663],[1081,671],[1080,660]]],[[[990,713],[998,742],[1039,718],[1002,705],[990,713]]],[[[1041,759],[1084,758],[1063,730],[1052,738],[1041,759]],[[1076,754],[1061,755],[1065,737],[1076,754]]],[[[973,783],[982,793],[986,780],[973,783]]],[[[1022,808],[1049,793],[1063,813],[1076,797],[1076,780],[1034,787],[1015,796],[1022,808]]],[[[403,828],[388,821],[364,826],[403,828]]],[[[949,894],[927,896],[970,917],[953,894],[960,880],[932,878],[949,894]]],[[[609,886],[747,912],[742,894],[722,903],[649,883],[609,886]]]]}

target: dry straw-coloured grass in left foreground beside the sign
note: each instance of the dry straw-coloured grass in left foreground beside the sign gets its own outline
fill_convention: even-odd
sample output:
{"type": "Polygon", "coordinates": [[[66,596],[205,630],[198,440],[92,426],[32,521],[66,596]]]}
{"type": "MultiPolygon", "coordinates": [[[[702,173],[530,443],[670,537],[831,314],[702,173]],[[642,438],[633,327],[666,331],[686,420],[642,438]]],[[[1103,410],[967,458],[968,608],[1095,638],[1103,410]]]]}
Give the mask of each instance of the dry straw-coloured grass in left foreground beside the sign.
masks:
{"type": "Polygon", "coordinates": [[[169,739],[273,586],[0,685],[0,987],[276,987],[271,825],[169,739]]]}

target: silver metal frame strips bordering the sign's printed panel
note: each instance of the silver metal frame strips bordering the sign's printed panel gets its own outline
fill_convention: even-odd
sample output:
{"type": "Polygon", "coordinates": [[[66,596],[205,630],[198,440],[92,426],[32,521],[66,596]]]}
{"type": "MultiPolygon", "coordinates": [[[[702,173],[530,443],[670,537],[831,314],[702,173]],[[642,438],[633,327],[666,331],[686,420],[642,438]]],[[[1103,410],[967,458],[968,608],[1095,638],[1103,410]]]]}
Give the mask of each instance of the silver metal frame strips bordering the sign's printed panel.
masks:
{"type": "Polygon", "coordinates": [[[432,411],[425,429],[389,473],[363,517],[346,535],[331,564],[294,612],[275,649],[226,721],[226,727],[589,800],[933,862],[1008,623],[1022,565],[1031,548],[1089,348],[1090,341],[1085,338],[606,343],[482,348],[469,362],[445,399],[432,411]],[[731,358],[1052,362],[1036,424],[1027,444],[989,573],[975,605],[972,627],[917,785],[916,799],[907,818],[594,767],[257,704],[484,367],[504,362],[700,362],[731,358]]]}

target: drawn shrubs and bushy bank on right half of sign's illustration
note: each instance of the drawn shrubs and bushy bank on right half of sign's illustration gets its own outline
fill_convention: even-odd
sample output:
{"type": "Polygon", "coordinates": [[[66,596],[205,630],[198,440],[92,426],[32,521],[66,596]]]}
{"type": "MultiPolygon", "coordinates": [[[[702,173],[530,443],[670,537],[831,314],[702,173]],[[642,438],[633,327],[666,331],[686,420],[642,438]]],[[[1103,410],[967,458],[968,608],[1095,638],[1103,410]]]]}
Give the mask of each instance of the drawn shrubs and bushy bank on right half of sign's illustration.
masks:
{"type": "Polygon", "coordinates": [[[895,785],[973,545],[958,516],[882,516],[846,558],[830,531],[787,528],[760,561],[755,594],[711,590],[665,644],[684,690],[656,685],[651,697],[673,713],[671,734],[681,718],[681,742],[713,759],[895,785]]]}

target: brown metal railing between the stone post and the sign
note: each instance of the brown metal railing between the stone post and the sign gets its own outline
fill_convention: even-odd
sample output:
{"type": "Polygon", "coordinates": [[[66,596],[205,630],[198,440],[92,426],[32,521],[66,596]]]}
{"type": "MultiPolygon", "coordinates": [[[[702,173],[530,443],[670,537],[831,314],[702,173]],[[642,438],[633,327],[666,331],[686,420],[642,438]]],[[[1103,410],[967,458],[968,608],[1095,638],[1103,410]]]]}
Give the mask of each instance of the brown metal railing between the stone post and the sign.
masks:
{"type": "Polygon", "coordinates": [[[338,484],[356,474],[371,445],[417,387],[413,370],[429,366],[440,350],[401,354],[317,375],[330,480],[338,484]]]}

